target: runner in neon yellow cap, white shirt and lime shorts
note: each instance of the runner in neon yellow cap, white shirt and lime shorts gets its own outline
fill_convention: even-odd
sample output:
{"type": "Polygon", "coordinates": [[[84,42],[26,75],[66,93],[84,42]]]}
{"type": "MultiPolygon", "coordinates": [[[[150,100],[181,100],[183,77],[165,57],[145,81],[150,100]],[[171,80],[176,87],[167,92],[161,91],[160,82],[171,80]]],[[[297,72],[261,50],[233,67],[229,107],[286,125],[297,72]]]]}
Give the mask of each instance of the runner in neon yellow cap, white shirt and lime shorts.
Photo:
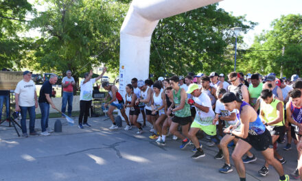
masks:
{"type": "Polygon", "coordinates": [[[201,149],[202,146],[196,137],[197,132],[202,130],[209,136],[217,137],[216,125],[213,125],[215,113],[212,110],[211,99],[206,93],[202,93],[197,84],[190,84],[187,93],[193,96],[192,99],[188,99],[187,103],[196,108],[196,116],[189,130],[189,138],[197,149],[191,158],[197,159],[205,156],[205,153],[201,149]]]}

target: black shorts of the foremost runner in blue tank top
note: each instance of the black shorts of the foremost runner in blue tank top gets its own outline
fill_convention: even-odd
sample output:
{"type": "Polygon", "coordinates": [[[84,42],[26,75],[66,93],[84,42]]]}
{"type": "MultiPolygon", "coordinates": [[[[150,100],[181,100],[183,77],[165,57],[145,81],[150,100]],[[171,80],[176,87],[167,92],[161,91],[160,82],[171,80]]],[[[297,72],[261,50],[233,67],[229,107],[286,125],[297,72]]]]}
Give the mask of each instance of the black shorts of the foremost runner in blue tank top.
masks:
{"type": "Polygon", "coordinates": [[[270,136],[270,132],[266,130],[264,134],[260,135],[251,135],[248,134],[247,138],[241,138],[243,141],[246,141],[257,151],[264,151],[268,148],[273,148],[272,146],[272,136],[270,136]]]}

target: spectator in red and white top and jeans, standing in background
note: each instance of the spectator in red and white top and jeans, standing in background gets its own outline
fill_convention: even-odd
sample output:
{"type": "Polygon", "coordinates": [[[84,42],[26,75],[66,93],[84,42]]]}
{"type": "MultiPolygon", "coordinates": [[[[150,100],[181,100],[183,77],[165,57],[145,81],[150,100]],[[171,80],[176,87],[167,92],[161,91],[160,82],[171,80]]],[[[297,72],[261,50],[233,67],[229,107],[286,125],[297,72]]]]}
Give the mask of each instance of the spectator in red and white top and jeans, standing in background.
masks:
{"type": "Polygon", "coordinates": [[[73,86],[75,86],[75,81],[74,78],[71,76],[71,71],[67,71],[66,75],[67,76],[63,77],[62,80],[63,97],[62,97],[61,112],[65,113],[67,102],[68,102],[67,112],[69,117],[71,117],[72,102],[73,102],[73,86]]]}

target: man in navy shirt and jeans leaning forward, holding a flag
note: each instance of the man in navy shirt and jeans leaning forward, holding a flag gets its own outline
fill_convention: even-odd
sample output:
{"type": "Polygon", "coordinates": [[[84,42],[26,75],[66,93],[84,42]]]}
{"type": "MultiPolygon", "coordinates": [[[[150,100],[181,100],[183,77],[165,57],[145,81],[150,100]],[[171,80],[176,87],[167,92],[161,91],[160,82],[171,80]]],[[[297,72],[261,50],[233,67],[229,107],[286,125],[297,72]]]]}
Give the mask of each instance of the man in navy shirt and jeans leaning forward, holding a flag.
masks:
{"type": "Polygon", "coordinates": [[[58,75],[51,74],[49,80],[45,81],[40,89],[38,104],[41,110],[41,134],[44,136],[49,136],[49,132],[53,132],[53,130],[48,127],[49,104],[51,105],[51,108],[56,108],[50,96],[52,95],[52,85],[56,84],[57,81],[58,75]]]}

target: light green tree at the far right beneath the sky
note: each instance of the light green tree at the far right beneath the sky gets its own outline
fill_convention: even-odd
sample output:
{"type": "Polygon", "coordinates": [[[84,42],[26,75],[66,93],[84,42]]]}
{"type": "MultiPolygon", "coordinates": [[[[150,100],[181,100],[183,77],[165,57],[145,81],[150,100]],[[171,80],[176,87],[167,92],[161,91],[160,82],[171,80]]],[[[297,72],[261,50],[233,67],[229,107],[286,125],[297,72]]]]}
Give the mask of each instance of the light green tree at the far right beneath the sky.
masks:
{"type": "Polygon", "coordinates": [[[272,21],[273,29],[255,36],[253,45],[244,53],[239,67],[243,72],[279,75],[281,66],[283,76],[301,73],[301,43],[302,43],[302,16],[289,14],[272,21]],[[285,47],[284,56],[282,48],[285,47]],[[270,51],[259,51],[270,50],[270,51]],[[292,66],[294,65],[294,67],[292,66]]]}

